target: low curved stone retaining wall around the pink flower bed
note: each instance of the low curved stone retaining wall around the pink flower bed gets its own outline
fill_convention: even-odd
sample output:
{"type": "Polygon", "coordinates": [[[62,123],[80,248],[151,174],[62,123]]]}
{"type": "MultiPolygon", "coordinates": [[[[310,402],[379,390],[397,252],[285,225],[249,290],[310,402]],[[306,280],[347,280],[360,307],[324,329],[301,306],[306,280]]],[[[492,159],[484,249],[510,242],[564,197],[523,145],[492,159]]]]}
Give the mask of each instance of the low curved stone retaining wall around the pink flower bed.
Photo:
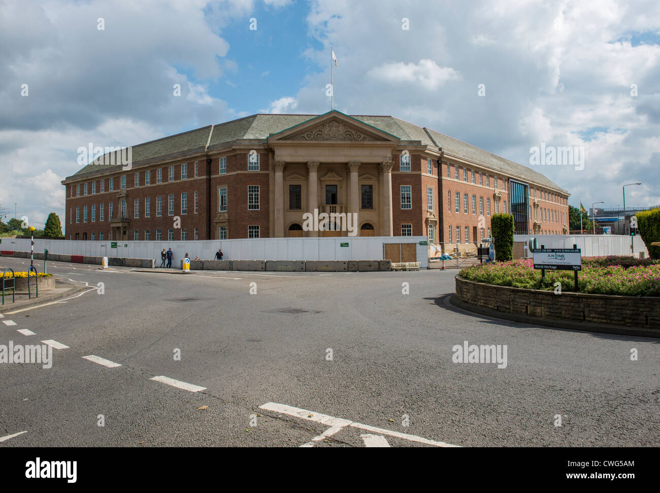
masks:
{"type": "Polygon", "coordinates": [[[660,298],[554,294],[554,291],[482,284],[455,277],[456,296],[471,305],[544,319],[660,328],[660,298]]]}

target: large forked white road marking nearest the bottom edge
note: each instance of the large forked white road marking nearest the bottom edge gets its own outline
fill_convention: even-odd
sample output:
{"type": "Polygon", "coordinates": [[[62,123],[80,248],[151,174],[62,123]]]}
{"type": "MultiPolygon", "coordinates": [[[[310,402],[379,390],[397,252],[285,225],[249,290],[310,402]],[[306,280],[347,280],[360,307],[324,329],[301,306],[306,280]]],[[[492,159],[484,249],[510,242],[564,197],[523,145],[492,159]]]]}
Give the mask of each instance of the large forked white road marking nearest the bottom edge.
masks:
{"type": "MultiPolygon", "coordinates": [[[[424,443],[425,445],[435,445],[436,447],[459,447],[460,445],[451,445],[450,443],[445,443],[444,441],[430,440],[428,438],[418,437],[414,435],[408,435],[405,433],[393,432],[391,430],[385,430],[384,428],[376,428],[376,426],[369,426],[368,424],[356,423],[350,420],[345,420],[343,418],[335,418],[334,416],[328,416],[327,414],[320,414],[318,412],[308,411],[306,409],[301,409],[293,406],[287,406],[286,404],[277,404],[277,402],[267,402],[263,406],[259,406],[260,409],[267,411],[279,412],[280,414],[287,414],[288,416],[294,416],[296,418],[302,418],[308,421],[314,421],[321,424],[327,424],[331,428],[325,430],[325,432],[317,437],[314,437],[312,441],[301,445],[301,447],[314,447],[315,442],[320,441],[321,439],[331,436],[347,426],[352,426],[354,428],[359,428],[360,430],[367,430],[369,432],[375,432],[381,435],[388,435],[397,438],[403,438],[405,440],[416,441],[418,443],[424,443]]],[[[361,435],[362,436],[362,435],[361,435]]],[[[383,438],[383,437],[381,437],[383,438]]],[[[383,438],[384,439],[384,438],[383,438]]],[[[371,441],[371,440],[370,440],[371,441]]],[[[371,441],[371,443],[374,443],[371,441]]],[[[382,443],[382,441],[381,441],[382,443]]],[[[366,444],[366,442],[365,442],[366,444]]]]}

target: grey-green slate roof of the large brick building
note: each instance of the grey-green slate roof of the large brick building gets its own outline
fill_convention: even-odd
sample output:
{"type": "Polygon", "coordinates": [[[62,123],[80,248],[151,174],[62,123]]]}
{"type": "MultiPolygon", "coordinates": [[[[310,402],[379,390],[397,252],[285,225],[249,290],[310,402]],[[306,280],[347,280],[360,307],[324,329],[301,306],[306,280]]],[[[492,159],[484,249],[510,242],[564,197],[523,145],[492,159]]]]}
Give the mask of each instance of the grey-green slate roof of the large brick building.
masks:
{"type": "MultiPolygon", "coordinates": [[[[525,180],[531,180],[549,188],[554,188],[555,190],[562,190],[562,192],[568,194],[566,190],[557,186],[552,180],[540,172],[479,149],[479,147],[474,147],[473,145],[453,139],[435,130],[418,127],[393,116],[350,116],[365,124],[374,126],[383,132],[395,135],[401,139],[402,143],[442,147],[442,150],[446,153],[475,161],[475,163],[492,168],[494,171],[499,171],[510,176],[519,176],[525,180]]],[[[150,161],[158,161],[158,159],[166,156],[185,156],[191,153],[203,152],[207,148],[207,142],[209,143],[209,150],[241,141],[261,141],[265,143],[269,135],[273,135],[273,133],[282,132],[318,117],[319,115],[255,114],[215,126],[206,126],[189,132],[178,133],[177,135],[133,146],[133,164],[140,165],[142,163],[149,163],[150,161]],[[211,137],[210,140],[209,136],[211,137]]],[[[119,169],[120,167],[121,165],[116,165],[114,168],[119,169]]],[[[87,165],[73,176],[78,177],[94,171],[108,171],[108,169],[112,168],[87,165]]]]}

